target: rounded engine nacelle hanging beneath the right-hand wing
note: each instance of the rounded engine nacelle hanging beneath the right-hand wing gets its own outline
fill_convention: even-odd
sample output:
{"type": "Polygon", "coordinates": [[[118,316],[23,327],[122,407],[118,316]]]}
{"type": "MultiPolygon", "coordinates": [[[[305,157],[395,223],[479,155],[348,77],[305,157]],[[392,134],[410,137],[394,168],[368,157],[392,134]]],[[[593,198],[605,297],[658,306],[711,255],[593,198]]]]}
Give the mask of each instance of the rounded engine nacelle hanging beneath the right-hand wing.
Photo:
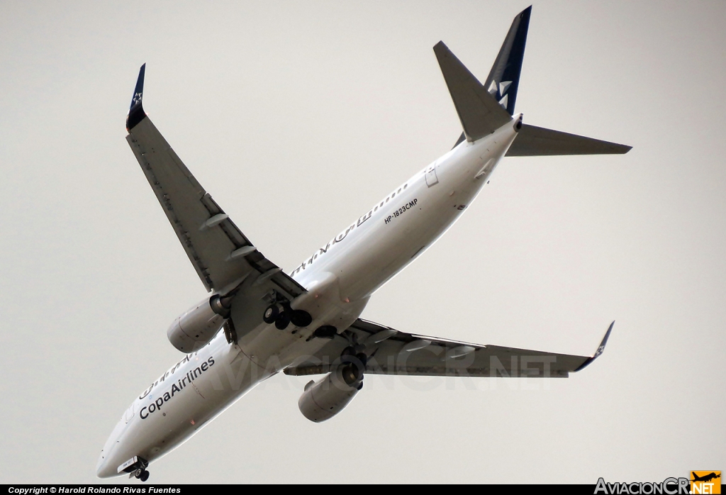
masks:
{"type": "Polygon", "coordinates": [[[319,382],[309,382],[298,400],[303,416],[314,422],[330,420],[348,405],[363,388],[359,367],[346,363],[325,375],[319,382]]]}

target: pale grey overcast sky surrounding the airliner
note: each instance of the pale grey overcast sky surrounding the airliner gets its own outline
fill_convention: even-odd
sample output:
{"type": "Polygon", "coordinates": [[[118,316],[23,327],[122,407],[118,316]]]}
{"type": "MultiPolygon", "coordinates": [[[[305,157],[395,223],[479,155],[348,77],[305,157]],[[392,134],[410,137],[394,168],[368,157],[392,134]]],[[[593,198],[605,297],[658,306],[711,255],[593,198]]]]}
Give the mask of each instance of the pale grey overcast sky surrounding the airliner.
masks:
{"type": "MultiPolygon", "coordinates": [[[[0,483],[94,483],[205,290],[124,139],[144,107],[291,271],[449,150],[431,50],[481,79],[527,1],[0,2],[0,483]]],[[[595,483],[726,470],[726,3],[534,3],[517,107],[627,155],[502,160],[364,318],[605,353],[568,380],[366,378],[338,417],[276,376],[155,483],[595,483]],[[720,412],[719,412],[720,411],[720,412]]],[[[123,478],[112,483],[132,483],[123,478]]]]}

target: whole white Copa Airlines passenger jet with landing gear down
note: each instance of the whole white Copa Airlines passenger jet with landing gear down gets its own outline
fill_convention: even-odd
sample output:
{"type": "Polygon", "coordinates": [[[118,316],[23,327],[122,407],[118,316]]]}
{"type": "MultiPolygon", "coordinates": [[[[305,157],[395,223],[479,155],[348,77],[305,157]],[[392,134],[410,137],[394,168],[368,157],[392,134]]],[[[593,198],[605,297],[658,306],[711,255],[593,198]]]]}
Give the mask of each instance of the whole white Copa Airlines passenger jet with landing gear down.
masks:
{"type": "Polygon", "coordinates": [[[631,147],[523,122],[515,113],[531,7],[520,12],[484,84],[433,47],[463,132],[452,150],[394,188],[290,274],[267,259],[195,179],[144,112],[142,65],[126,140],[208,295],[169,327],[183,356],[134,399],[97,463],[99,478],[142,481],[154,462],[262,380],[324,375],[298,401],[314,422],[342,411],[364,375],[567,377],[592,356],[478,345],[403,332],[360,316],[484,189],[503,157],[622,154],[631,147]]]}

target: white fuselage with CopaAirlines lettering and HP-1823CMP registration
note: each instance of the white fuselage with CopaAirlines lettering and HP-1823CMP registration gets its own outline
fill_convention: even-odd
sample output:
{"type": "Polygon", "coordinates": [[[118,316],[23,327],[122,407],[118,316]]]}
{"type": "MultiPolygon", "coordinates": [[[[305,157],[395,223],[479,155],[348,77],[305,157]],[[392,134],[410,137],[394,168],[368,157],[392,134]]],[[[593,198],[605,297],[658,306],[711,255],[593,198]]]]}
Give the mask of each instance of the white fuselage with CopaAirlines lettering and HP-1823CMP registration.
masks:
{"type": "Polygon", "coordinates": [[[481,191],[515,139],[518,116],[476,142],[462,142],[346,226],[293,270],[308,293],[293,301],[314,317],[280,332],[261,321],[230,345],[219,332],[137,397],[105,443],[97,475],[117,475],[134,456],[151,462],[179,446],[250,388],[309,356],[328,340],[323,324],[345,330],[375,290],[433,244],[481,191]]]}

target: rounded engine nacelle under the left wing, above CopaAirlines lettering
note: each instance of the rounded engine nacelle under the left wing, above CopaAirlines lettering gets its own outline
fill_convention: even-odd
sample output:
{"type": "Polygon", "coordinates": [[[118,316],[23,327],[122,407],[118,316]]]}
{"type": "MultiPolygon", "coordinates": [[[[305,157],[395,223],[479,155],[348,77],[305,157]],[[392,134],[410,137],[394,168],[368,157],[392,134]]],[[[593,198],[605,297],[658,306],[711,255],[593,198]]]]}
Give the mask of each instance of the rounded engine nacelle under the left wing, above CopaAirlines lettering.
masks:
{"type": "Polygon", "coordinates": [[[190,353],[208,343],[229,318],[228,303],[213,295],[179,316],[166,331],[171,345],[190,353]]]}

